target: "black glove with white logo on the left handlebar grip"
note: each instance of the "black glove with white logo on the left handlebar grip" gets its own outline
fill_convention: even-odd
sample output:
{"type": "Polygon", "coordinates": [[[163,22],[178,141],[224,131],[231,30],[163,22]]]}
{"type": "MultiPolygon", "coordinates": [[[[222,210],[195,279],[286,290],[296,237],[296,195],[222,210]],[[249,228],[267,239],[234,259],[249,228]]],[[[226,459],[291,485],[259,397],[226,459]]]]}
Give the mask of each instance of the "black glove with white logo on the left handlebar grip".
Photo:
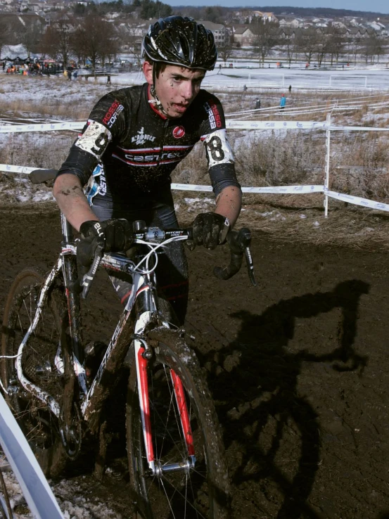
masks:
{"type": "Polygon", "coordinates": [[[79,232],[82,239],[77,245],[77,259],[84,267],[93,262],[97,245],[103,245],[104,252],[118,252],[129,249],[134,242],[132,227],[124,219],[88,220],[79,232]]]}

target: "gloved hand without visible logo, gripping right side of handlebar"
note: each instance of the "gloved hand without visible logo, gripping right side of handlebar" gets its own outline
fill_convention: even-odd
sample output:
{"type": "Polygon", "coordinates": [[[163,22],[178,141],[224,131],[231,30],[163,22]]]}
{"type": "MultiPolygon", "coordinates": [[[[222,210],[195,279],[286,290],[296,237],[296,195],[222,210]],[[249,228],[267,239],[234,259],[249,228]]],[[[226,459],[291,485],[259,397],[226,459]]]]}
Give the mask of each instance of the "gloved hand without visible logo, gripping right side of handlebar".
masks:
{"type": "Polygon", "coordinates": [[[225,239],[225,236],[222,237],[222,233],[226,226],[229,226],[229,221],[222,214],[216,212],[198,214],[192,224],[194,245],[204,245],[207,249],[215,249],[225,239]]]}

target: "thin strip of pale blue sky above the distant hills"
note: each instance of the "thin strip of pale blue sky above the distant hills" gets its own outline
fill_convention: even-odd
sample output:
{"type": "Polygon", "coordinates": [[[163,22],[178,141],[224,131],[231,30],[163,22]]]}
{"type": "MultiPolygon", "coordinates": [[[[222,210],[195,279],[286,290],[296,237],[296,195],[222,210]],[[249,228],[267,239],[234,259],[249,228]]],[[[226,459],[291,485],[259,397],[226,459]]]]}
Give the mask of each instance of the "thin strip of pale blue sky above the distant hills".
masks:
{"type": "MultiPolygon", "coordinates": [[[[167,0],[170,6],[224,6],[242,8],[242,6],[258,7],[255,0],[167,0]],[[239,6],[239,7],[238,7],[239,6]]],[[[295,7],[332,7],[333,9],[352,9],[353,11],[372,11],[389,14],[389,0],[272,0],[262,6],[295,6],[295,7]]]]}

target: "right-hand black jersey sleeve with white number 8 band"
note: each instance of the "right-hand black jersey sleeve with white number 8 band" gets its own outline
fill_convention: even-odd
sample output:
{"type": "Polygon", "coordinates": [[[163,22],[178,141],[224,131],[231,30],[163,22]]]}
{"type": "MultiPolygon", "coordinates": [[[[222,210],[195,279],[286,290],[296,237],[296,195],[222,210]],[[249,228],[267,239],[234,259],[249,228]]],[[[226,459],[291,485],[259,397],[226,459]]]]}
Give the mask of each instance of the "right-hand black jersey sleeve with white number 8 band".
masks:
{"type": "Polygon", "coordinates": [[[201,127],[200,139],[205,146],[208,171],[215,196],[224,188],[241,188],[236,179],[234,154],[227,137],[226,121],[222,103],[216,96],[208,94],[203,103],[206,117],[201,127]]]}

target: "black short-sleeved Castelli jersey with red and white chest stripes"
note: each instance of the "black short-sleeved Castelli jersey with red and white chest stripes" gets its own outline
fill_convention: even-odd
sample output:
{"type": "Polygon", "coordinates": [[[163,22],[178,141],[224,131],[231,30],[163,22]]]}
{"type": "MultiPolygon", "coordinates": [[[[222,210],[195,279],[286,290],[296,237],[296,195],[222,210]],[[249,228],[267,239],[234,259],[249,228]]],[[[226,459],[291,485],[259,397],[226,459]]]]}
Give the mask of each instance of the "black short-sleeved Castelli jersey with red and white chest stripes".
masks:
{"type": "Polygon", "coordinates": [[[170,183],[174,167],[199,140],[205,144],[212,188],[240,187],[226,135],[222,105],[205,90],[178,119],[150,103],[147,83],[112,91],[96,103],[58,175],[76,174],[89,198],[128,200],[170,183]]]}

